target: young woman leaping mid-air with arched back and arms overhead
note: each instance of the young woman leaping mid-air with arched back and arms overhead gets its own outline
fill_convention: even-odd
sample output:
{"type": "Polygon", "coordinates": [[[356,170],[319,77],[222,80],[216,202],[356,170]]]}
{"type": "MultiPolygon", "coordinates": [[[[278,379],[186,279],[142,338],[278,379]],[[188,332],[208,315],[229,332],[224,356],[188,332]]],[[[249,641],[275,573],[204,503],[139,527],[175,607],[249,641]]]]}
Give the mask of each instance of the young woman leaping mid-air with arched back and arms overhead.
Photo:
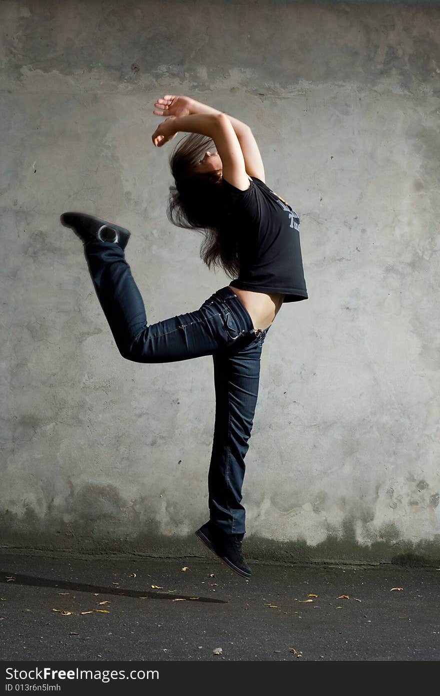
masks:
{"type": "Polygon", "coordinates": [[[92,215],[67,212],[64,226],[84,244],[97,296],[120,354],[138,363],[213,356],[215,425],[208,475],[210,519],[195,534],[244,578],[241,489],[259,388],[263,341],[283,303],[307,299],[299,219],[265,184],[250,127],[193,99],[165,95],[152,135],[158,148],[182,139],[170,157],[168,218],[203,232],[201,256],[231,278],[199,309],[147,324],[124,248],[130,232],[92,215]],[[214,143],[216,152],[207,150],[214,143]]]}

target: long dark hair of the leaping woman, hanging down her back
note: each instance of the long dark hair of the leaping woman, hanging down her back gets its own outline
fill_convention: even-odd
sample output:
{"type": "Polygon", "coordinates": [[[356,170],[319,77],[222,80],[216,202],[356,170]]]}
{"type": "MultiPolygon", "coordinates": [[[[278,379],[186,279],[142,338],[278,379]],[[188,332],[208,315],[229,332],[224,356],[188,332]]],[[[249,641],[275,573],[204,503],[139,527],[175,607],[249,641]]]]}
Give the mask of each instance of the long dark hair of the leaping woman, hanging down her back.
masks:
{"type": "Polygon", "coordinates": [[[220,267],[234,278],[240,272],[238,235],[225,200],[221,170],[197,173],[195,169],[212,145],[209,136],[198,133],[190,133],[177,143],[170,157],[175,185],[170,186],[167,216],[177,227],[202,232],[200,258],[209,269],[220,267]]]}

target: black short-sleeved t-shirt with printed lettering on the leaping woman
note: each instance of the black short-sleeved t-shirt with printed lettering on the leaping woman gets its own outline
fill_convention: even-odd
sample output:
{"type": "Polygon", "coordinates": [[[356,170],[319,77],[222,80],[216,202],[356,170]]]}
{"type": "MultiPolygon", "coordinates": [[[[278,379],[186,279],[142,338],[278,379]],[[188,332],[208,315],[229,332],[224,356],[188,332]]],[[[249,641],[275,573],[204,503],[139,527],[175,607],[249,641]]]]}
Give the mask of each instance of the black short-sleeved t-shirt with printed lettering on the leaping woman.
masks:
{"type": "Polygon", "coordinates": [[[300,219],[264,182],[250,177],[250,188],[222,180],[231,200],[238,235],[240,274],[229,285],[242,290],[284,294],[284,302],[309,297],[302,268],[300,219]]]}

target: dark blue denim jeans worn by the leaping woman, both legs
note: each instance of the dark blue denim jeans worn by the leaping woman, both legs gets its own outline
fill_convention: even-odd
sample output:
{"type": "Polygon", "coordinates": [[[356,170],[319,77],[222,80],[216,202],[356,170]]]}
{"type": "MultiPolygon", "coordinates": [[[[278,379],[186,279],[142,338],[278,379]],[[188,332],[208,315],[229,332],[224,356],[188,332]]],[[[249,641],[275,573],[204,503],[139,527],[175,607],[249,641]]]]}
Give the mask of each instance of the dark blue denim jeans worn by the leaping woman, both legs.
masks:
{"type": "Polygon", "coordinates": [[[111,242],[90,242],[84,248],[97,296],[124,358],[170,363],[213,356],[210,520],[228,534],[244,534],[241,488],[259,389],[261,347],[268,329],[255,331],[249,313],[228,286],[214,292],[195,312],[147,324],[122,248],[111,242]]]}

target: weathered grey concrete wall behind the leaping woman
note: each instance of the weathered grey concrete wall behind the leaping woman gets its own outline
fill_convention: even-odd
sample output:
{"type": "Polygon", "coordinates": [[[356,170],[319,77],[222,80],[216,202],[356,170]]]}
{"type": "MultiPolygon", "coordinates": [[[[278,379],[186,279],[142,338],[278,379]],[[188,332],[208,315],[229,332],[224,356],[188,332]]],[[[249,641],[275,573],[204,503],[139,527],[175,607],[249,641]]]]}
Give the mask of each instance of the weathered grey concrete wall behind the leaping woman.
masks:
{"type": "Polygon", "coordinates": [[[154,148],[152,110],[177,93],[249,122],[301,219],[309,300],[263,347],[248,555],[439,557],[439,6],[0,13],[3,546],[202,555],[211,358],[124,361],[58,222],[85,209],[132,230],[149,322],[227,285],[165,217],[177,141],[154,148]]]}

